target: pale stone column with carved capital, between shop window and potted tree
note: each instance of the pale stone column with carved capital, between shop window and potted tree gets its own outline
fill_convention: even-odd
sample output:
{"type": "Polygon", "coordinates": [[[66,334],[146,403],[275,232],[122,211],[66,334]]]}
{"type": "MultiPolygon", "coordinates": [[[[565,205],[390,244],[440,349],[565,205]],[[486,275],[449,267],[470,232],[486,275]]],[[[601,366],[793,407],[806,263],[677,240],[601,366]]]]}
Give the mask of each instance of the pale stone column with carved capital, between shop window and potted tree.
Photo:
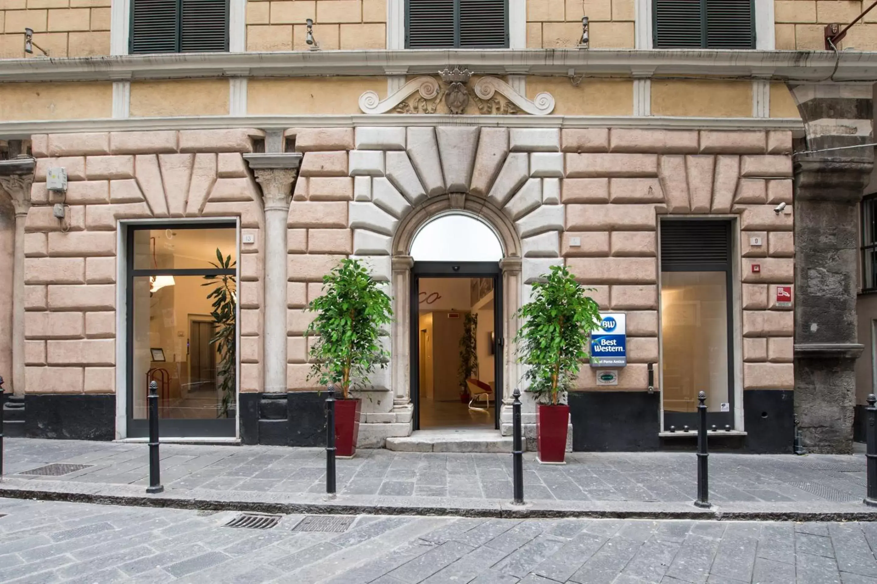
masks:
{"type": "Polygon", "coordinates": [[[286,225],[292,183],[292,168],[254,168],[265,203],[265,391],[285,392],[286,382],[286,225]]]}

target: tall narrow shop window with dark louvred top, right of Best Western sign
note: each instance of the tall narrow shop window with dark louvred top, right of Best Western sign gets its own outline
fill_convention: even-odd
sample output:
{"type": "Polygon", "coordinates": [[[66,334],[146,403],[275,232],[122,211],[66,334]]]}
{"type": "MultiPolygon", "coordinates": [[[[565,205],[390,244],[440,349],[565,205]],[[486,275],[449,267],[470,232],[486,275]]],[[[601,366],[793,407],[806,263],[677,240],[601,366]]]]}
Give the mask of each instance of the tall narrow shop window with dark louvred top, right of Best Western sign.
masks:
{"type": "Polygon", "coordinates": [[[695,427],[697,393],[710,424],[733,426],[731,223],[660,223],[664,430],[695,427]]]}

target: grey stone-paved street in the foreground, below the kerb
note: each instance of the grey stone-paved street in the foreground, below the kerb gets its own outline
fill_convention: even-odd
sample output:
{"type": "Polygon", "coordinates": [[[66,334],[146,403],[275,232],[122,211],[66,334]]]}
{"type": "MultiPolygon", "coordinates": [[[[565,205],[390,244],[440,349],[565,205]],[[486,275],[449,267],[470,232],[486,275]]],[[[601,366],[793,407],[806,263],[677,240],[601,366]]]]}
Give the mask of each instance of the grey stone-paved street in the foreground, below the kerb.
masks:
{"type": "MultiPolygon", "coordinates": [[[[877,523],[367,516],[225,527],[235,511],[0,498],[0,581],[203,584],[877,583],[877,523]]],[[[332,516],[322,516],[332,517],[332,516]]]]}

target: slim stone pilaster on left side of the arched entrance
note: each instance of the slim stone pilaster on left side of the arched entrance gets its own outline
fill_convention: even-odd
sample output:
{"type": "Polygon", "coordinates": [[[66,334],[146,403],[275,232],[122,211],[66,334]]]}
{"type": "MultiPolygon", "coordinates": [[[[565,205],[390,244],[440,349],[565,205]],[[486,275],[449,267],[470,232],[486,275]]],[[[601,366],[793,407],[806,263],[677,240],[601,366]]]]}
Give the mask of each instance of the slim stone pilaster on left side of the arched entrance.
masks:
{"type": "MultiPolygon", "coordinates": [[[[411,410],[411,267],[414,258],[410,255],[393,256],[393,317],[397,325],[393,327],[393,338],[390,339],[391,363],[393,370],[393,410],[398,414],[411,410]]],[[[397,422],[410,421],[397,419],[397,422]]]]}

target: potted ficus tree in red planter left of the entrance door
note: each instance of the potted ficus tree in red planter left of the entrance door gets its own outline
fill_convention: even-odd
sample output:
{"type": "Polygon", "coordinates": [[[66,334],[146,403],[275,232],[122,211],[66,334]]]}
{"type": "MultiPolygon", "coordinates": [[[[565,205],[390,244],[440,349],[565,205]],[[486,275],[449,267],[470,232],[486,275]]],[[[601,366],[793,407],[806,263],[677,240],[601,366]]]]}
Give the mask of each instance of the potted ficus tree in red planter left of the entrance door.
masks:
{"type": "Polygon", "coordinates": [[[393,312],[390,298],[372,280],[358,260],[341,260],[323,276],[323,296],[308,305],[317,313],[306,335],[317,336],[310,349],[314,360],[308,379],[334,384],[341,395],[335,402],[335,447],[338,456],[356,452],[362,402],[351,398],[351,389],[364,383],[375,368],[387,367],[389,353],[379,344],[381,326],[393,312]]]}

